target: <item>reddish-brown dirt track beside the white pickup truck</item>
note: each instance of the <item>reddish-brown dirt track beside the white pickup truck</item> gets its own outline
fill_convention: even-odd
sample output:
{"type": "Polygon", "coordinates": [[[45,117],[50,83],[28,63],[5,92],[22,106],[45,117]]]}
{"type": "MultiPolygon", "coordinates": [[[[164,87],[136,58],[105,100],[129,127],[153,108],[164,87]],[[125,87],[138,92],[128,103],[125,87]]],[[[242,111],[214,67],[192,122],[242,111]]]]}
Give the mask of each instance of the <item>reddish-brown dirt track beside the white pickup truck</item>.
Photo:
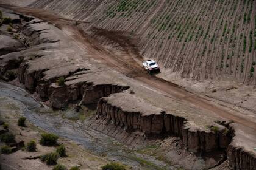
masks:
{"type": "MultiPolygon", "coordinates": [[[[256,130],[256,118],[246,117],[246,115],[244,115],[242,112],[238,112],[232,108],[212,103],[203,97],[199,97],[196,94],[191,94],[190,92],[182,89],[174,83],[165,81],[162,78],[157,78],[154,75],[148,75],[147,73],[144,73],[140,64],[136,62],[133,57],[137,56],[137,61],[142,61],[142,58],[138,57],[138,54],[133,53],[136,52],[135,46],[130,46],[130,44],[127,42],[123,44],[123,48],[126,50],[127,55],[119,58],[108,50],[105,50],[98,44],[98,42],[91,39],[87,33],[85,33],[82,29],[79,29],[79,27],[74,24],[74,21],[70,19],[62,18],[61,16],[57,16],[51,12],[41,9],[15,7],[13,5],[7,4],[0,4],[0,6],[14,10],[16,12],[25,13],[26,15],[35,16],[57,25],[57,27],[62,29],[67,36],[77,42],[77,46],[87,49],[91,53],[91,56],[96,60],[103,61],[104,63],[108,64],[108,66],[113,67],[113,69],[123,73],[127,77],[131,77],[134,80],[140,81],[148,87],[155,88],[158,91],[163,92],[164,95],[173,98],[174,100],[182,101],[185,104],[190,104],[191,106],[195,106],[198,109],[205,110],[205,112],[212,112],[219,117],[243,124],[246,127],[250,127],[252,132],[256,130]]],[[[107,33],[108,38],[112,37],[113,41],[117,41],[122,46],[122,43],[119,42],[121,41],[122,37],[116,37],[118,36],[118,33],[106,32],[104,30],[98,30],[98,33],[102,34],[102,31],[103,33],[107,33]]]]}

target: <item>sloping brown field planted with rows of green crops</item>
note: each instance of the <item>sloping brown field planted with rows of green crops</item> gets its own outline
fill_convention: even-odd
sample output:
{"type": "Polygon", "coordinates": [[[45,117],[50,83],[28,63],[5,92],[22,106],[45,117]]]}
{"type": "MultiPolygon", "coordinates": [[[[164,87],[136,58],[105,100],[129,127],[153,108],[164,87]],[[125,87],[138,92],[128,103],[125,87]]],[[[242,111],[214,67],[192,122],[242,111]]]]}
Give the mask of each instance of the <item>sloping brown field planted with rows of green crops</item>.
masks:
{"type": "Polygon", "coordinates": [[[182,77],[256,84],[254,0],[38,0],[31,5],[88,21],[88,31],[129,33],[143,58],[154,58],[182,77]]]}

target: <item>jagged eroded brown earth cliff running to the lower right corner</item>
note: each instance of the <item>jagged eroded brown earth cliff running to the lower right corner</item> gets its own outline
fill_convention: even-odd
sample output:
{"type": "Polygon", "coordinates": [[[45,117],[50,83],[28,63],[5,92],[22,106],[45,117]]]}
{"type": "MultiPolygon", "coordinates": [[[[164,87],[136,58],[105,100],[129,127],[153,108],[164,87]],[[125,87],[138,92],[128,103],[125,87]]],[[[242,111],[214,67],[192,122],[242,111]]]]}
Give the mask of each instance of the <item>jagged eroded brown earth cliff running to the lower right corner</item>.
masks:
{"type": "Polygon", "coordinates": [[[230,168],[256,169],[256,156],[250,152],[252,148],[243,148],[240,132],[235,133],[234,127],[229,122],[201,129],[193,126],[192,122],[183,117],[149,106],[128,93],[101,98],[98,102],[97,114],[99,124],[104,122],[109,126],[116,126],[117,129],[126,130],[128,134],[138,131],[148,138],[175,135],[181,138],[188,151],[201,152],[201,154],[218,150],[226,151],[230,168]],[[129,106],[127,103],[130,103],[130,100],[137,102],[129,106]]]}

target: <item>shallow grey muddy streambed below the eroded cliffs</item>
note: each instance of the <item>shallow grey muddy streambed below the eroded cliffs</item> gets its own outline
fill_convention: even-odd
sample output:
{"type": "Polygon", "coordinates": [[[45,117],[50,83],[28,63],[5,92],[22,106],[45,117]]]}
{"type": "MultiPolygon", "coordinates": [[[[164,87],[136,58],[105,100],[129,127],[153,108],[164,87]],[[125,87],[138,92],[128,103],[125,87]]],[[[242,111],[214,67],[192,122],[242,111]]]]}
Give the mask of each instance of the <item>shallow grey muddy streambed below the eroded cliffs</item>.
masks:
{"type": "MultiPolygon", "coordinates": [[[[53,112],[30,97],[24,89],[0,82],[0,97],[11,99],[12,104],[18,105],[17,107],[22,110],[27,120],[35,126],[75,141],[92,154],[105,157],[108,160],[119,161],[133,169],[176,169],[152,156],[139,154],[113,138],[91,129],[82,121],[63,118],[63,114],[67,114],[66,112],[53,112]]],[[[69,112],[73,112],[73,110],[69,112]]]]}

